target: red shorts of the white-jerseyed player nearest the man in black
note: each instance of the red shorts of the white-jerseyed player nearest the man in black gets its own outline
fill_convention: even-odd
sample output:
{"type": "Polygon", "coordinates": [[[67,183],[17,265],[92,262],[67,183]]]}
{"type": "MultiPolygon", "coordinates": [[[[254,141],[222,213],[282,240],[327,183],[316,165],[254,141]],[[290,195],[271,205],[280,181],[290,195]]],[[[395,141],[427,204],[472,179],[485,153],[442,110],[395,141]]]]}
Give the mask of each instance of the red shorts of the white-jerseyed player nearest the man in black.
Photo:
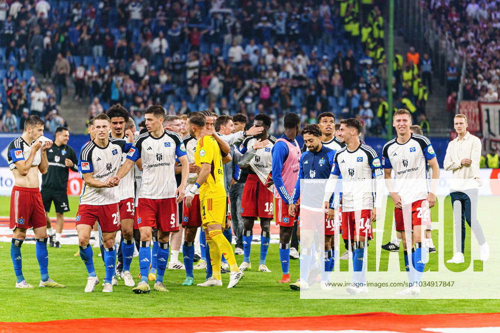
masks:
{"type": "Polygon", "coordinates": [[[79,205],[76,212],[76,225],[91,227],[98,221],[102,232],[114,232],[121,228],[118,203],[109,205],[79,205]]]}

